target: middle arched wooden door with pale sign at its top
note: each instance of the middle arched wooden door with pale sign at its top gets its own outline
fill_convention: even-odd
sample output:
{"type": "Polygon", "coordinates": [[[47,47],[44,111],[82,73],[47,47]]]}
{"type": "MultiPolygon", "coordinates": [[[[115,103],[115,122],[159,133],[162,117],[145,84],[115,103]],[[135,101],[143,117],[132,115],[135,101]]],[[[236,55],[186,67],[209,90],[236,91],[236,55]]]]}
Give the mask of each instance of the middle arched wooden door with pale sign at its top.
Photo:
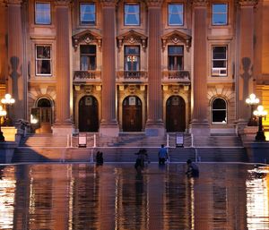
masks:
{"type": "Polygon", "coordinates": [[[142,102],[135,96],[129,96],[123,101],[122,109],[124,132],[141,132],[142,131],[142,102]]]}

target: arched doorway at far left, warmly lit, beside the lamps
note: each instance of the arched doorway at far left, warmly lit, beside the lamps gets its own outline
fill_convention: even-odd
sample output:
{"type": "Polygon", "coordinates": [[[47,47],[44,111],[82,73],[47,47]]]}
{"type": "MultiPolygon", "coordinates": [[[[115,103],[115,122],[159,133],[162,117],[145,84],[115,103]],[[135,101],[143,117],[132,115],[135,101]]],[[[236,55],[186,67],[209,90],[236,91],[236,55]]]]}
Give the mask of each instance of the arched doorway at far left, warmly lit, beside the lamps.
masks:
{"type": "Polygon", "coordinates": [[[52,132],[52,102],[48,98],[39,98],[36,106],[31,109],[32,118],[37,120],[37,124],[33,124],[34,132],[52,132]]]}

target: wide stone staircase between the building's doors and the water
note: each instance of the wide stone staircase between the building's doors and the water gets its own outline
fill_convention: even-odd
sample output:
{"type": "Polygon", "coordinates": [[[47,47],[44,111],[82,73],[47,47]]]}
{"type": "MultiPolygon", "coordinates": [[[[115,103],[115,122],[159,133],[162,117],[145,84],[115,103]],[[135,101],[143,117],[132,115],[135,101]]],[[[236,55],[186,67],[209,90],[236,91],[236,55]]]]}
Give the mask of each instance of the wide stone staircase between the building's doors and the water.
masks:
{"type": "Polygon", "coordinates": [[[169,143],[170,162],[186,162],[188,158],[203,162],[247,162],[247,155],[237,136],[211,135],[195,137],[184,134],[184,147],[176,147],[176,133],[169,137],[147,137],[141,133],[120,133],[117,138],[87,135],[87,148],[78,148],[79,136],[55,136],[53,134],[30,134],[22,141],[13,155],[18,162],[93,162],[98,150],[105,162],[134,162],[139,149],[147,149],[152,162],[158,162],[161,144],[169,143]]]}

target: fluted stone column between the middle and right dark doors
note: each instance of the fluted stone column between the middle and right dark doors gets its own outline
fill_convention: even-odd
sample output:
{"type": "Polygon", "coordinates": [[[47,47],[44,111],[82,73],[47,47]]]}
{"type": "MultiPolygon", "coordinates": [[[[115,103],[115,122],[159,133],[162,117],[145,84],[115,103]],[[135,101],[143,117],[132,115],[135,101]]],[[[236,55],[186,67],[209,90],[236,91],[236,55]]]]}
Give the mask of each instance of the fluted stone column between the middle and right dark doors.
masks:
{"type": "Polygon", "coordinates": [[[161,97],[161,4],[162,0],[148,0],[149,66],[148,119],[145,132],[149,136],[164,135],[161,97]]]}

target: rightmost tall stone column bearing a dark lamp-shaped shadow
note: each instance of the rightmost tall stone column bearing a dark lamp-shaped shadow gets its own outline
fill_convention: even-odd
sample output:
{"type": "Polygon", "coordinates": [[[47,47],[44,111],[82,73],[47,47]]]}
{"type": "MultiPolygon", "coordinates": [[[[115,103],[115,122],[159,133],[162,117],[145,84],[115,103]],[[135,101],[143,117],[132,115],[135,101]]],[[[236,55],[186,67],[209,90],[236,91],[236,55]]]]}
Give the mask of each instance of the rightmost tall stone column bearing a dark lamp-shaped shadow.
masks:
{"type": "Polygon", "coordinates": [[[239,0],[239,74],[237,81],[238,129],[239,133],[247,125],[246,98],[254,92],[254,7],[256,0],[239,0]]]}

